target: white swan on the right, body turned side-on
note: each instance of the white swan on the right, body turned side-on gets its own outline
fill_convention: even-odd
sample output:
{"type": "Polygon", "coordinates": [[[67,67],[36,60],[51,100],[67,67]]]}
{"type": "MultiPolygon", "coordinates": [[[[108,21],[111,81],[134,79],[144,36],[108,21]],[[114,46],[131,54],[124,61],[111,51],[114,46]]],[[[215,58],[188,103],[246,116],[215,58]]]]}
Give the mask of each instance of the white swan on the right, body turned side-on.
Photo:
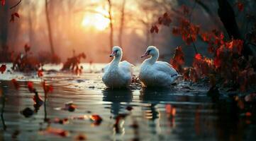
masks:
{"type": "Polygon", "coordinates": [[[159,51],[157,47],[150,46],[146,50],[145,56],[151,56],[145,59],[140,66],[139,79],[146,87],[169,87],[177,79],[178,73],[167,62],[157,61],[159,51]]]}

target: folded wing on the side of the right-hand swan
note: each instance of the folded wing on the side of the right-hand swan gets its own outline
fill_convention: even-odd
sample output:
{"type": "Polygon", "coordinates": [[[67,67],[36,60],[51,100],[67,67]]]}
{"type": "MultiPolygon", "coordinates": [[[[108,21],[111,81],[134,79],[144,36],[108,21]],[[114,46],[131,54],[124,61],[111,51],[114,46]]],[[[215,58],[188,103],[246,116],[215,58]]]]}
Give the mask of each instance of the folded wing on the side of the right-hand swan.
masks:
{"type": "Polygon", "coordinates": [[[164,61],[157,61],[154,64],[154,67],[158,71],[162,71],[164,73],[168,73],[169,75],[178,75],[177,71],[172,67],[171,64],[164,62],[164,61]]]}

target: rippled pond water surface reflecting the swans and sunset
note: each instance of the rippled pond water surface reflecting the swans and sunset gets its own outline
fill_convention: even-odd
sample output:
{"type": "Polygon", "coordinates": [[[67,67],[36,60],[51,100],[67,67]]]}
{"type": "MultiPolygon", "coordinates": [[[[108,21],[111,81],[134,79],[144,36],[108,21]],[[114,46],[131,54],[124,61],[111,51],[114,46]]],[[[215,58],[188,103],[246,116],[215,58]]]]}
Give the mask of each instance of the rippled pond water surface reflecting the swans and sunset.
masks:
{"type": "Polygon", "coordinates": [[[78,135],[87,140],[255,140],[255,123],[233,116],[232,104],[212,102],[204,88],[180,82],[167,90],[105,90],[101,82],[103,66],[84,64],[84,73],[79,76],[54,71],[45,74],[44,79],[54,87],[46,104],[47,118],[68,118],[65,124],[45,123],[43,106],[30,118],[20,113],[26,107],[34,109],[34,94],[28,91],[26,81],[33,80],[43,97],[40,79],[35,74],[0,75],[6,97],[0,140],[75,140],[78,135]],[[9,81],[12,78],[18,80],[19,90],[9,81]],[[60,109],[70,101],[77,106],[75,111],[60,109]],[[95,124],[89,120],[93,114],[103,121],[95,124]],[[123,118],[116,125],[120,115],[123,118]],[[45,133],[49,127],[66,130],[68,135],[45,133]]]}

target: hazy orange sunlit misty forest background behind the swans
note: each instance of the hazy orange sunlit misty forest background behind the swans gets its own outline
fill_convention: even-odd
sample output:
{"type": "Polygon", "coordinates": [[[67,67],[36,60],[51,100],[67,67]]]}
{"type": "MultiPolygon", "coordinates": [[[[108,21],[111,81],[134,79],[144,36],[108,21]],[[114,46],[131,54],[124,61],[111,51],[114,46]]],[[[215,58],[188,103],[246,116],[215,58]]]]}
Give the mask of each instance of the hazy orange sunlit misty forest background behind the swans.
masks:
{"type": "MultiPolygon", "coordinates": [[[[200,30],[225,31],[218,18],[216,0],[23,0],[10,10],[17,2],[9,0],[6,6],[0,6],[1,50],[8,48],[22,52],[24,44],[29,44],[35,56],[43,56],[51,53],[52,46],[62,61],[84,52],[87,55],[84,62],[106,63],[110,60],[111,47],[118,45],[123,48],[123,59],[140,63],[145,49],[154,45],[160,49],[160,59],[164,61],[169,61],[174,49],[182,46],[189,65],[195,54],[194,49],[184,44],[181,37],[172,35],[172,26],[160,27],[158,34],[150,33],[151,26],[163,13],[176,14],[183,5],[193,8],[191,23],[200,25],[200,30]],[[13,12],[17,12],[20,18],[10,22],[13,12]]],[[[234,6],[235,1],[230,3],[234,6]]],[[[238,13],[237,9],[235,13],[238,13]]],[[[236,17],[238,25],[245,28],[243,13],[238,13],[236,17]]],[[[199,53],[208,55],[207,44],[200,39],[195,44],[199,53]]],[[[5,55],[7,57],[7,54],[1,56],[5,55]]]]}

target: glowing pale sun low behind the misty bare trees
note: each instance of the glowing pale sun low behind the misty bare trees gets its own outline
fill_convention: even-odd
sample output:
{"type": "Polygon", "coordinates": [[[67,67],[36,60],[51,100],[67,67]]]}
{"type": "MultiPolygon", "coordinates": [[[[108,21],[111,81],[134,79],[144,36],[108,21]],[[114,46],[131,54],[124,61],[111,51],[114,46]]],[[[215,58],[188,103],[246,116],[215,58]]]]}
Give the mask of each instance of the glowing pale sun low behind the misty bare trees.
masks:
{"type": "Polygon", "coordinates": [[[100,13],[86,14],[82,20],[82,26],[96,30],[105,30],[109,23],[110,20],[100,13]]]}

